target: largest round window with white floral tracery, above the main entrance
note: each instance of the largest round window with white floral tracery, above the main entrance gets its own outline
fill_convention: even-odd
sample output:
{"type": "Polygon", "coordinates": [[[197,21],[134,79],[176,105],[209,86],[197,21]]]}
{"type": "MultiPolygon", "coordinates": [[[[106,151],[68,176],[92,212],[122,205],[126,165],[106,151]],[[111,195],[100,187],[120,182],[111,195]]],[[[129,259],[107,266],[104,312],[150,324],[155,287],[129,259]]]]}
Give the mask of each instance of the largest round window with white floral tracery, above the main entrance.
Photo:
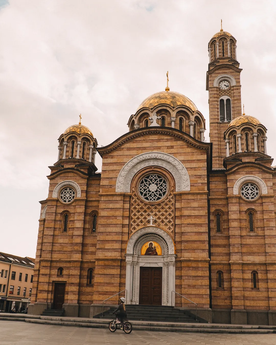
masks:
{"type": "Polygon", "coordinates": [[[141,179],[138,189],[145,200],[157,201],[166,195],[168,184],[163,176],[150,174],[141,179]]]}

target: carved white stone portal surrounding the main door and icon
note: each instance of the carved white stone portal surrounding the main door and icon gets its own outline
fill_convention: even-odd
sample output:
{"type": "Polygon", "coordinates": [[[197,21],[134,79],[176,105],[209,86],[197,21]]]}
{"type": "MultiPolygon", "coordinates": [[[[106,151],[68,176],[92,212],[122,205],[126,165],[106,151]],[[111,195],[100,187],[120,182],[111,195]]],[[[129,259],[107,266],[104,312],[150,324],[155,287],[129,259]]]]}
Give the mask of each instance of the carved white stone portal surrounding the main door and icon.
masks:
{"type": "Polygon", "coordinates": [[[170,235],[155,226],[141,228],[129,238],[126,250],[127,304],[139,304],[140,267],[162,267],[162,305],[173,305],[175,290],[175,245],[170,235]],[[148,241],[156,241],[162,255],[141,255],[141,247],[148,241]],[[171,303],[172,302],[172,303],[171,303]]]}

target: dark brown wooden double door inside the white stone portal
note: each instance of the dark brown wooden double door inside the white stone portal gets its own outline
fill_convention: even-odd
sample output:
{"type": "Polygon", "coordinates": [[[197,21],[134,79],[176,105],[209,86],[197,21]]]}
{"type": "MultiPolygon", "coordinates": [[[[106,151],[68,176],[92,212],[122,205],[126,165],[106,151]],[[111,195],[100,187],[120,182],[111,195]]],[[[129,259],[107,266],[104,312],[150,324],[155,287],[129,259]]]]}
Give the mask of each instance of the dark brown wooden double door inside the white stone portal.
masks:
{"type": "Polygon", "coordinates": [[[162,305],[162,268],[141,267],[139,304],[162,305]]]}

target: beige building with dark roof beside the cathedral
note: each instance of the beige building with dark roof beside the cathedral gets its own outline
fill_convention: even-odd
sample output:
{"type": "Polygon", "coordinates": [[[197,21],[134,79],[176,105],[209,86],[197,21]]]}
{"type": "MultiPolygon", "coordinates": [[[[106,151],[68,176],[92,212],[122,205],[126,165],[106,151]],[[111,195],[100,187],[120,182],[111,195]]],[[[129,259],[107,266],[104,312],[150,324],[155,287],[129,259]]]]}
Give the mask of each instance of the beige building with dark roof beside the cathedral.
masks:
{"type": "Polygon", "coordinates": [[[34,259],[0,253],[0,311],[28,308],[32,295],[34,259]]]}

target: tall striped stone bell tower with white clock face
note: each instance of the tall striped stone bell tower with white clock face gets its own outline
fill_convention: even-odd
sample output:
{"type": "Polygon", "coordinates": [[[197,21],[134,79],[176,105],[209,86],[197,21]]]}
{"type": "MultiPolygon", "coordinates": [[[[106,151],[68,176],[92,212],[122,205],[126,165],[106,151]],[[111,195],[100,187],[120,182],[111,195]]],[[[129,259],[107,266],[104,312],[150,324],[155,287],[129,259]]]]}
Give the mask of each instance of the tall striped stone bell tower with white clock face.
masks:
{"type": "Polygon", "coordinates": [[[213,142],[213,169],[223,168],[226,157],[224,132],[229,122],[242,115],[240,72],[236,39],[221,29],[208,43],[209,65],[206,90],[209,91],[210,142],[213,142]]]}

